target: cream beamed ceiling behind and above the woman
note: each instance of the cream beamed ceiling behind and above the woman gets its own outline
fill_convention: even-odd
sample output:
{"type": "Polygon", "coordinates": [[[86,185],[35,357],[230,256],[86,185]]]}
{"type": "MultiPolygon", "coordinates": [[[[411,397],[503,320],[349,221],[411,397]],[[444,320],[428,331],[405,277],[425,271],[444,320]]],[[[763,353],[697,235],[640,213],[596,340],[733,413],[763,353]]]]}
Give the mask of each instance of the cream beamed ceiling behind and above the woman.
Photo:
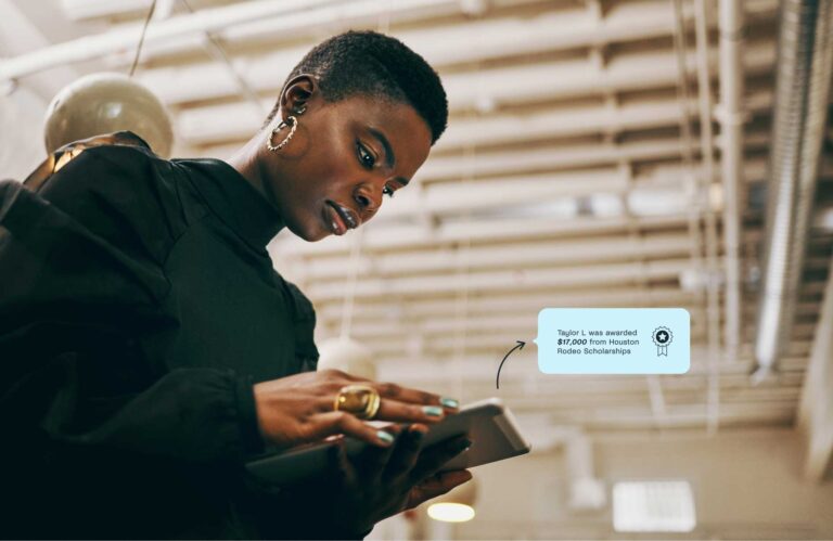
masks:
{"type": "MultiPolygon", "coordinates": [[[[64,47],[28,56],[42,62],[40,76],[57,65],[126,72],[150,7],[3,1],[53,43],[87,36],[80,55],[64,47]]],[[[315,302],[320,339],[341,333],[353,292],[350,333],[374,351],[381,378],[465,401],[499,395],[527,426],[791,425],[833,233],[811,230],[779,376],[753,385],[778,4],[744,2],[742,317],[741,331],[728,336],[722,127],[714,114],[725,75],[715,4],[705,3],[707,42],[696,39],[689,1],[161,0],[137,77],[170,110],[176,155],[223,158],[260,126],[316,42],[347,28],[402,39],[443,77],[448,131],[361,233],[305,243],[283,232],[270,245],[275,267],[315,302]],[[529,344],[513,353],[496,390],[498,364],[516,340],[536,337],[544,307],[687,308],[691,371],[544,375],[529,344]],[[735,342],[736,351],[726,347],[735,342]]],[[[55,80],[36,79],[22,83],[48,100],[55,80]]],[[[831,130],[825,149],[819,208],[833,201],[831,130]]]]}

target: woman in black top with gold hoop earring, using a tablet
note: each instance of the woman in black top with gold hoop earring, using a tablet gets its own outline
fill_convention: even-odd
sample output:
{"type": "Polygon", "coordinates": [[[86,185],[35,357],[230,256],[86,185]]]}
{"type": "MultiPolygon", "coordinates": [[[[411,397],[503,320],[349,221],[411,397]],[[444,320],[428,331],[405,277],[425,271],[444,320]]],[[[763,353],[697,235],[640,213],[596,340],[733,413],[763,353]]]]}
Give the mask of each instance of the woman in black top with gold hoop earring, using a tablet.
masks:
{"type": "Polygon", "coordinates": [[[419,451],[454,400],[309,372],[315,312],[266,252],[284,227],[313,242],[370,220],[447,114],[422,57],[347,33],[300,61],[228,163],[164,160],[121,133],[0,183],[0,536],[355,537],[470,479],[437,474],[465,438],[419,451]],[[371,446],[336,446],[324,478],[244,473],[341,434],[371,446]]]}

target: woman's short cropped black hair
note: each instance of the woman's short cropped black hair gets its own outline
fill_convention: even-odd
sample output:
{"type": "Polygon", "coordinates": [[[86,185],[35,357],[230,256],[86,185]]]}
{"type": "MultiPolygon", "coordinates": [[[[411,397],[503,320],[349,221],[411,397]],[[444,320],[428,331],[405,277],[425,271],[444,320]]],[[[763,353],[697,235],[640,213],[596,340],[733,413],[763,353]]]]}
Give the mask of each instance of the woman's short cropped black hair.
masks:
{"type": "MultiPolygon", "coordinates": [[[[448,99],[439,76],[425,59],[396,38],[375,31],[347,31],[309,51],[286,77],[302,74],[318,78],[324,100],[336,102],[357,94],[407,103],[425,119],[432,145],[446,130],[448,99]]],[[[272,107],[268,125],[280,107],[272,107]]]]}

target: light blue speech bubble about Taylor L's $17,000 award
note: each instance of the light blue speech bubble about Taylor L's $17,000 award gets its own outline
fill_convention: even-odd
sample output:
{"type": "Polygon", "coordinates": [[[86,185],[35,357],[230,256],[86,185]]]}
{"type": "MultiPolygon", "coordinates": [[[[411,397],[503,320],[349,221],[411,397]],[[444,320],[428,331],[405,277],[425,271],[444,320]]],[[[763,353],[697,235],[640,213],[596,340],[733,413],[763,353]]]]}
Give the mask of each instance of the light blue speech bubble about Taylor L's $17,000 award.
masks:
{"type": "Polygon", "coordinates": [[[534,342],[546,374],[684,374],[691,315],[684,308],[544,308],[534,342]]]}

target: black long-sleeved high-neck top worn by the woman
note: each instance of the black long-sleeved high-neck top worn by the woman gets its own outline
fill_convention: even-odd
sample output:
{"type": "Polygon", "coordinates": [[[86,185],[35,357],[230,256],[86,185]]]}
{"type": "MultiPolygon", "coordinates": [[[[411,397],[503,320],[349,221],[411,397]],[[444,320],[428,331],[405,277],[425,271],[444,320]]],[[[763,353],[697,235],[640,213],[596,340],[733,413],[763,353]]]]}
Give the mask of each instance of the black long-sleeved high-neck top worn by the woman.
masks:
{"type": "Polygon", "coordinates": [[[228,164],[141,146],[0,183],[0,537],[315,536],[242,468],[253,384],[318,360],[281,227],[228,164]]]}

